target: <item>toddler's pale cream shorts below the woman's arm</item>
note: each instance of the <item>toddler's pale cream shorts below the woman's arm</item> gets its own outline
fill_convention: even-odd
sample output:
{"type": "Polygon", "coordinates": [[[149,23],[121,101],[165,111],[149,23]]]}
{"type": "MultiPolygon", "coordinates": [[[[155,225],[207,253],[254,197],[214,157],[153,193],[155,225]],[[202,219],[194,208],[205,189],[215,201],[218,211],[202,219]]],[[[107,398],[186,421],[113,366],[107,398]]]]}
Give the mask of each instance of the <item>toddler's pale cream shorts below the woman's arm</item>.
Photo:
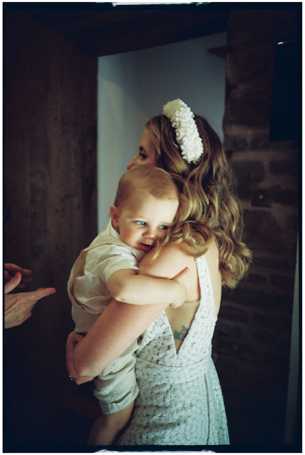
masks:
{"type": "Polygon", "coordinates": [[[137,398],[139,388],[135,374],[136,354],[139,345],[134,341],[123,354],[94,378],[97,397],[103,414],[120,411],[137,398]]]}

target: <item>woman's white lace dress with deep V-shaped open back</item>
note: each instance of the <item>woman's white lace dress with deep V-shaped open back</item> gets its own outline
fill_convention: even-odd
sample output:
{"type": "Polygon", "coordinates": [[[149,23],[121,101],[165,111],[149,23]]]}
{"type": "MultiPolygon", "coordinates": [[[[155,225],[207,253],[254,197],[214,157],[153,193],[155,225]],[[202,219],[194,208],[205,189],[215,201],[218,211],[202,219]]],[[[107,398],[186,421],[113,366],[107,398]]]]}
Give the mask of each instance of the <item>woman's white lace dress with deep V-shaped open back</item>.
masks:
{"type": "Polygon", "coordinates": [[[178,354],[164,311],[142,335],[136,352],[140,391],[118,445],[229,444],[223,395],[211,358],[217,320],[211,277],[204,256],[196,263],[200,304],[178,354]]]}

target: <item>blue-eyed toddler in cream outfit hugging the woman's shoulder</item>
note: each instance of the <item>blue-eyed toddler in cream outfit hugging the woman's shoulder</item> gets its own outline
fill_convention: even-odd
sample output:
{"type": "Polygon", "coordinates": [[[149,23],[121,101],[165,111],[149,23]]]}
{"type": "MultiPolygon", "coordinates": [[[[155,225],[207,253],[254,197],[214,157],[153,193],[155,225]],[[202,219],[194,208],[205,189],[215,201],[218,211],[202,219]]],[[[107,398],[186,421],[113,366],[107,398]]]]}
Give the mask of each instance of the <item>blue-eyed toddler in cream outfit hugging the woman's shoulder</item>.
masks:
{"type": "MultiPolygon", "coordinates": [[[[172,280],[137,275],[144,254],[170,232],[178,206],[178,189],[163,169],[134,166],[122,176],[107,229],[82,250],[71,270],[68,293],[76,332],[86,334],[112,298],[136,305],[168,303],[174,308],[185,301],[187,270],[172,280]]],[[[93,393],[102,415],[91,430],[89,445],[112,445],[130,418],[138,394],[137,348],[136,340],[94,379],[93,393]]]]}

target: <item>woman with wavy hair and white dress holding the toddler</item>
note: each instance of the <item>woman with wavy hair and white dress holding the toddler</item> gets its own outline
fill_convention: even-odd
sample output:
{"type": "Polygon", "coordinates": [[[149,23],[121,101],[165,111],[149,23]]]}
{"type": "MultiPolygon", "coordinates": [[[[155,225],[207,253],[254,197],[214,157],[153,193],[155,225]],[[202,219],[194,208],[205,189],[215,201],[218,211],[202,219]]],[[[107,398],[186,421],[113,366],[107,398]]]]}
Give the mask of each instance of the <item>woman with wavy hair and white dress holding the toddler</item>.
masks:
{"type": "Polygon", "coordinates": [[[112,301],[85,338],[70,334],[69,374],[86,382],[139,337],[139,394],[117,445],[229,444],[211,340],[221,288],[234,288],[252,258],[241,241],[233,176],[215,131],[181,100],[148,121],[127,169],[136,164],[163,168],[180,192],[175,228],[145,255],[139,273],[173,278],[188,267],[187,297],[179,308],[112,301]]]}

